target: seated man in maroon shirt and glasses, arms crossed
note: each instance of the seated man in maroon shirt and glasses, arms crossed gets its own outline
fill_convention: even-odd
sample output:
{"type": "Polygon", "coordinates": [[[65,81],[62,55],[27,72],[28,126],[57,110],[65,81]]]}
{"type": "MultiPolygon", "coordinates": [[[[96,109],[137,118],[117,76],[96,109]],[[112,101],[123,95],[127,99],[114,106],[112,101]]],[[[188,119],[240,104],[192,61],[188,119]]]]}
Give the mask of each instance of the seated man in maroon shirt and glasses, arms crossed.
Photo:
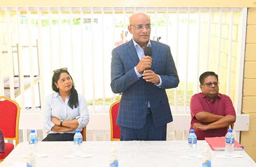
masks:
{"type": "Polygon", "coordinates": [[[197,139],[225,136],[229,125],[233,129],[235,109],[227,95],[219,93],[218,75],[204,72],[200,78],[201,93],[191,97],[191,126],[197,139]]]}

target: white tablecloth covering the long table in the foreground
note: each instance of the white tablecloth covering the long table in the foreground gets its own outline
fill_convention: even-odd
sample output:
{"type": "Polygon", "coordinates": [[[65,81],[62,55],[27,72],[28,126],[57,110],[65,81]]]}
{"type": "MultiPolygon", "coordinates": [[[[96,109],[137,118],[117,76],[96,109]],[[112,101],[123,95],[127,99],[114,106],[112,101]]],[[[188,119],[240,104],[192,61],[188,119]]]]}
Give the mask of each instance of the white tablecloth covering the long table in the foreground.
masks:
{"type": "MultiPolygon", "coordinates": [[[[200,167],[202,159],[183,159],[187,155],[187,141],[87,141],[83,142],[84,154],[90,158],[64,158],[73,154],[73,142],[38,142],[38,152],[49,156],[36,158],[37,167],[104,167],[109,166],[109,153],[112,143],[116,144],[120,167],[200,167]]],[[[205,141],[198,141],[197,150],[201,155],[205,141]]],[[[29,149],[28,142],[20,143],[0,164],[0,167],[11,167],[22,158],[29,149]]],[[[256,167],[256,163],[245,151],[235,151],[243,158],[216,158],[224,151],[211,151],[212,167],[256,167]]]]}

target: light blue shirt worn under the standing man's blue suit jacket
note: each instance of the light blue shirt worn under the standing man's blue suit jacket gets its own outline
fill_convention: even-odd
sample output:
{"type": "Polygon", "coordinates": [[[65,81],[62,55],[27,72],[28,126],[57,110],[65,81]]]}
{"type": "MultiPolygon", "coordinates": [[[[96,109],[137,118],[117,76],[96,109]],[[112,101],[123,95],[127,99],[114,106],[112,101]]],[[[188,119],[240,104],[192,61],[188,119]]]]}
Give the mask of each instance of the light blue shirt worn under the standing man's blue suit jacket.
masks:
{"type": "MultiPolygon", "coordinates": [[[[134,44],[134,46],[135,46],[137,55],[138,55],[139,59],[141,60],[141,58],[145,56],[145,55],[144,55],[144,50],[140,47],[140,45],[138,45],[138,43],[136,43],[136,42],[134,41],[133,38],[132,38],[132,41],[133,41],[133,44],[134,44]]],[[[150,47],[151,47],[150,40],[149,40],[147,46],[150,46],[150,47]]],[[[153,60],[153,61],[154,61],[154,60],[153,60]]],[[[139,72],[138,72],[136,66],[134,67],[134,70],[135,70],[135,73],[136,73],[137,77],[138,77],[138,78],[141,78],[141,77],[142,77],[142,73],[139,73],[139,72]]],[[[161,77],[160,77],[159,75],[158,75],[158,77],[159,77],[160,82],[159,82],[159,84],[156,84],[156,83],[155,83],[155,85],[158,86],[158,87],[161,87],[161,86],[162,86],[162,79],[161,79],[161,77]]],[[[148,107],[150,107],[149,102],[148,102],[148,107]]]]}

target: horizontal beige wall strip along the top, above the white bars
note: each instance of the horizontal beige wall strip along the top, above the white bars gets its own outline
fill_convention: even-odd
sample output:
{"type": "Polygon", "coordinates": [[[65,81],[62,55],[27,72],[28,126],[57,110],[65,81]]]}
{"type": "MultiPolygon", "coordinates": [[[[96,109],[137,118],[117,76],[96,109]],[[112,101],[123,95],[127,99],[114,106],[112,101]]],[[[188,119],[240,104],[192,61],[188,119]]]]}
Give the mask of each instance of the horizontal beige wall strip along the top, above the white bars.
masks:
{"type": "Polygon", "coordinates": [[[256,7],[255,0],[1,0],[0,6],[62,6],[62,7],[256,7]],[[232,6],[231,6],[232,5],[232,6]]]}

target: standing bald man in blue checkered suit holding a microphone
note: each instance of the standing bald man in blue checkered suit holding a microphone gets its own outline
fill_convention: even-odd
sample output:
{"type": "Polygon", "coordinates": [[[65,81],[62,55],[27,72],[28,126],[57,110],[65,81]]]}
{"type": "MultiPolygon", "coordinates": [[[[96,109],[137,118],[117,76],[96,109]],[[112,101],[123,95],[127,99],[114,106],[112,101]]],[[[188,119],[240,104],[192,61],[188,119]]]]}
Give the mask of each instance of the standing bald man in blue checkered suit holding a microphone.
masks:
{"type": "Polygon", "coordinates": [[[166,125],[173,118],[165,89],[179,84],[170,47],[149,40],[151,24],[145,13],[134,13],[129,21],[132,40],[113,49],[111,61],[112,91],[123,92],[116,121],[120,138],[166,140],[166,125]],[[144,55],[147,46],[151,57],[144,55]]]}

